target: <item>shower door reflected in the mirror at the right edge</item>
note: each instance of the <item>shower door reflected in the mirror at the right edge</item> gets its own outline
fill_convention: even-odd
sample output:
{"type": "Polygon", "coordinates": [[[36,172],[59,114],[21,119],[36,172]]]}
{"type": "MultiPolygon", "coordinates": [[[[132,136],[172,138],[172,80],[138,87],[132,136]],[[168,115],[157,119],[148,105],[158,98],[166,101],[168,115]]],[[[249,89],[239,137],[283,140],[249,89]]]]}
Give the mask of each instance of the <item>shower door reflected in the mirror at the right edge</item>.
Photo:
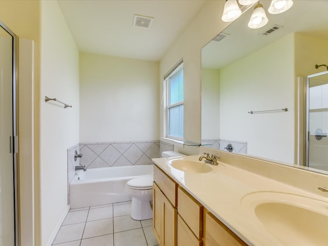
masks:
{"type": "Polygon", "coordinates": [[[306,77],[306,166],[328,171],[328,71],[306,77]]]}

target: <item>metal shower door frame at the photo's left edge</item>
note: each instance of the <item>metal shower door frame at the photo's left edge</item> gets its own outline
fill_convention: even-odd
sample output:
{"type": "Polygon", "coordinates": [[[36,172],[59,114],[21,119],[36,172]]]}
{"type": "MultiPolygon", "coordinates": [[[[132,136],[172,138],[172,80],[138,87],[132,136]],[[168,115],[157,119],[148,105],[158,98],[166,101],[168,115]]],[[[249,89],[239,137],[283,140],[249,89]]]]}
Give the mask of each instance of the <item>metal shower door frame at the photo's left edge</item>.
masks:
{"type": "Polygon", "coordinates": [[[14,237],[15,246],[19,245],[18,226],[18,136],[17,136],[17,50],[18,37],[0,20],[0,26],[12,36],[12,136],[10,141],[11,153],[13,154],[13,180],[14,180],[14,237]]]}

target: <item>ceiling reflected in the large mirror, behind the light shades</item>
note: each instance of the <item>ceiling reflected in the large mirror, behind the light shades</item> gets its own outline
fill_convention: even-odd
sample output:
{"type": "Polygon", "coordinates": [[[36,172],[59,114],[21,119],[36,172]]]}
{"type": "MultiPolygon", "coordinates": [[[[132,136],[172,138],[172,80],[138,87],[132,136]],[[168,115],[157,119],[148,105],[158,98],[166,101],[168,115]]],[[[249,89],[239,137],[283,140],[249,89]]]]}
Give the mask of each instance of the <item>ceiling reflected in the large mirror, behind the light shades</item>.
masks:
{"type": "MultiPolygon", "coordinates": [[[[270,3],[271,0],[261,0],[265,11],[268,10],[270,3]]],[[[295,0],[292,8],[284,13],[269,14],[267,11],[269,23],[259,29],[250,29],[247,26],[253,9],[254,7],[247,10],[232,25],[222,31],[222,33],[228,34],[226,38],[219,43],[211,41],[202,49],[202,67],[222,68],[293,32],[328,40],[327,0],[295,0]],[[282,28],[270,35],[262,35],[274,25],[282,28]]],[[[307,48],[311,49],[311,47],[307,48]]]]}

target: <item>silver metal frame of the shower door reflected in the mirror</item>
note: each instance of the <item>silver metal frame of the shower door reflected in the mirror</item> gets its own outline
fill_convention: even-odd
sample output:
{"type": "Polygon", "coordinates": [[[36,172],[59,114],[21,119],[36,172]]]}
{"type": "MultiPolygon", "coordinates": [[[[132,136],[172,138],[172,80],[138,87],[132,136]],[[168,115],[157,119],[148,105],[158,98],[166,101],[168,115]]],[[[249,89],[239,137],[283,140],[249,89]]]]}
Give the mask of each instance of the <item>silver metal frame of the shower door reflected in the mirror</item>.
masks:
{"type": "Polygon", "coordinates": [[[309,116],[310,116],[310,78],[320,75],[328,74],[328,70],[320,73],[315,73],[306,76],[306,92],[305,92],[305,166],[309,167],[309,148],[310,148],[310,130],[309,130],[309,116]]]}

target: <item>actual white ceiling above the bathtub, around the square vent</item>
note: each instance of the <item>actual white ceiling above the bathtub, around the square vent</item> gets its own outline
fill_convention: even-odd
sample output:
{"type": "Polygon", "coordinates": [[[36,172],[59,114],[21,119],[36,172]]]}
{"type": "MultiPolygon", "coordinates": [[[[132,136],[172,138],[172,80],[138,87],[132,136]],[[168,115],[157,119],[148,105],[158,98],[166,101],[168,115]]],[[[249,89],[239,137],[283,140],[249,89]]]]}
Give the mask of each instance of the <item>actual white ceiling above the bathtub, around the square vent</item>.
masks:
{"type": "Polygon", "coordinates": [[[206,0],[58,0],[81,52],[161,59],[206,0]],[[134,15],[154,17],[150,29],[134,15]]]}

